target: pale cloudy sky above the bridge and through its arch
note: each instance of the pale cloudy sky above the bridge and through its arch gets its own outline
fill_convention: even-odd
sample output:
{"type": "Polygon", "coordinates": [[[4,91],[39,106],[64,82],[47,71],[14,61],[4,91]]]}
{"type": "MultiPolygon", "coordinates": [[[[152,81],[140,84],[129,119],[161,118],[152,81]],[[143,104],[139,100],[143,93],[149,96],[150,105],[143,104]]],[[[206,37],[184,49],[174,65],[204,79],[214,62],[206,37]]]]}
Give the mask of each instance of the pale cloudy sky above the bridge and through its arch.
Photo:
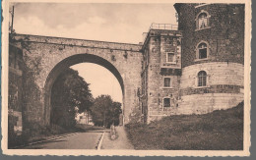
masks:
{"type": "MultiPolygon", "coordinates": [[[[15,3],[17,33],[138,44],[152,23],[176,25],[173,4],[15,3]]],[[[122,102],[113,75],[95,64],[72,67],[91,83],[94,97],[109,94],[122,102]],[[115,91],[113,91],[113,88],[115,91]],[[118,95],[118,96],[117,96],[118,95]]]]}

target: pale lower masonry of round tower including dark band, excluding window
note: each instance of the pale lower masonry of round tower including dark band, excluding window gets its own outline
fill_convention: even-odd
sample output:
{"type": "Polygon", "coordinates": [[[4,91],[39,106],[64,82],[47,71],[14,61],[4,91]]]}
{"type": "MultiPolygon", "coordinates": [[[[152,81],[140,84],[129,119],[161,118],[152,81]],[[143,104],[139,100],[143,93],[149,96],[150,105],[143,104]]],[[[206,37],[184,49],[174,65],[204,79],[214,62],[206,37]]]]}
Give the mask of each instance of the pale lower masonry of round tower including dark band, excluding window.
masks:
{"type": "Polygon", "coordinates": [[[212,62],[182,69],[177,114],[205,114],[236,106],[243,98],[242,64],[212,62]],[[197,74],[207,73],[207,85],[197,86],[197,74]]]}

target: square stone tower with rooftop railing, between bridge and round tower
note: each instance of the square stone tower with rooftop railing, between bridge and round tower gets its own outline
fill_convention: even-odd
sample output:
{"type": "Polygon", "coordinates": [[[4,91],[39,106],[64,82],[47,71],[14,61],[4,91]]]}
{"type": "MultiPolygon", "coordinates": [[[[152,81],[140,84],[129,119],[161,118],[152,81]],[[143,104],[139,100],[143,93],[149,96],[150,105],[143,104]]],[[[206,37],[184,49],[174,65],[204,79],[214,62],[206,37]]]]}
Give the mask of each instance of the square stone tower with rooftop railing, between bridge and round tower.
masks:
{"type": "Polygon", "coordinates": [[[143,44],[141,106],[144,122],[176,114],[181,76],[182,31],[153,24],[143,44]]]}

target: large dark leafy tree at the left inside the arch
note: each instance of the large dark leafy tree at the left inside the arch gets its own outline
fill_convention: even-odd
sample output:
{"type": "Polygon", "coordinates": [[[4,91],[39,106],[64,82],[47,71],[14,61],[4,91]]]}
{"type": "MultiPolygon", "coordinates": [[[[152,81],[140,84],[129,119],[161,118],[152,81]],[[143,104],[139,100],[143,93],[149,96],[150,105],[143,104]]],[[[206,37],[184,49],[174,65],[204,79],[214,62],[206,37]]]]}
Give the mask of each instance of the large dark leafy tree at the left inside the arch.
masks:
{"type": "Polygon", "coordinates": [[[89,85],[77,71],[67,69],[62,72],[51,90],[51,123],[64,128],[75,126],[77,112],[90,111],[93,105],[89,85]]]}

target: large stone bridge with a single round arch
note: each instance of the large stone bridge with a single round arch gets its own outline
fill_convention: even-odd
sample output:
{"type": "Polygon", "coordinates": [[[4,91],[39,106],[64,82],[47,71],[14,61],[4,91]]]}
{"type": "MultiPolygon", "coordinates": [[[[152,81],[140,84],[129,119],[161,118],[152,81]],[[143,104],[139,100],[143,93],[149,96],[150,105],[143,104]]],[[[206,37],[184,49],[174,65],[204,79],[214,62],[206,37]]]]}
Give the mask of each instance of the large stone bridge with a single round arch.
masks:
{"type": "Polygon", "coordinates": [[[50,123],[51,87],[66,68],[83,62],[108,69],[119,81],[123,93],[124,123],[138,105],[141,86],[141,45],[15,34],[10,44],[23,50],[24,121],[50,123]]]}

